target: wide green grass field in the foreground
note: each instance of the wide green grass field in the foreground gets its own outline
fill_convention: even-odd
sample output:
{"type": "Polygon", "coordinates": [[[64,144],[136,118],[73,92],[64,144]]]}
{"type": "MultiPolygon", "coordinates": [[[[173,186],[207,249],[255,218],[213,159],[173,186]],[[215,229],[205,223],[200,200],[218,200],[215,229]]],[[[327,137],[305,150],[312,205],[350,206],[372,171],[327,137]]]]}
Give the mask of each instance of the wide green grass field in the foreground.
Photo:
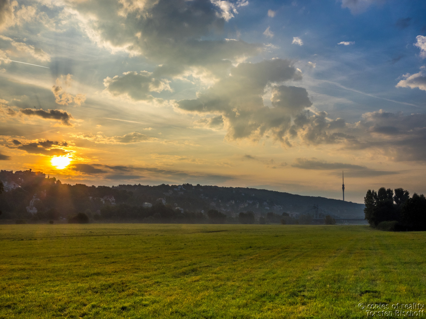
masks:
{"type": "Polygon", "coordinates": [[[366,318],[359,303],[426,304],[425,242],[367,226],[0,225],[0,318],[366,318]]]}

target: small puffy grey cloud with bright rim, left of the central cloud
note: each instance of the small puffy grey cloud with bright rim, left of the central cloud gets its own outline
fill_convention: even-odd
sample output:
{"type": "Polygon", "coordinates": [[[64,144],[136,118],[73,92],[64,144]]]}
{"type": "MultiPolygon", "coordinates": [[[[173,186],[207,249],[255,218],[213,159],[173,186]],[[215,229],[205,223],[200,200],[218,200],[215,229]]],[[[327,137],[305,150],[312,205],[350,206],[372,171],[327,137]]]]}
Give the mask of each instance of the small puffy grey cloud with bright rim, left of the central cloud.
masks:
{"type": "Polygon", "coordinates": [[[167,79],[155,79],[151,72],[124,72],[123,76],[104,79],[105,91],[114,96],[126,95],[132,100],[153,100],[151,92],[172,91],[167,79]]]}

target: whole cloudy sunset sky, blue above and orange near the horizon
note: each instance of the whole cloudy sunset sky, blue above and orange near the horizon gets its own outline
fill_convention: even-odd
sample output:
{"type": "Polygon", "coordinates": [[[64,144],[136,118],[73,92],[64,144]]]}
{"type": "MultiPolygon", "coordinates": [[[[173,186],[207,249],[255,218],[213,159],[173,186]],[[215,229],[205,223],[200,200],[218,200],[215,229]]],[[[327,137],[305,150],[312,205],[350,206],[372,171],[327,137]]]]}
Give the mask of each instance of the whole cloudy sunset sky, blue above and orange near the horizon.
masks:
{"type": "Polygon", "coordinates": [[[423,0],[0,0],[0,168],[426,193],[423,0]]]}

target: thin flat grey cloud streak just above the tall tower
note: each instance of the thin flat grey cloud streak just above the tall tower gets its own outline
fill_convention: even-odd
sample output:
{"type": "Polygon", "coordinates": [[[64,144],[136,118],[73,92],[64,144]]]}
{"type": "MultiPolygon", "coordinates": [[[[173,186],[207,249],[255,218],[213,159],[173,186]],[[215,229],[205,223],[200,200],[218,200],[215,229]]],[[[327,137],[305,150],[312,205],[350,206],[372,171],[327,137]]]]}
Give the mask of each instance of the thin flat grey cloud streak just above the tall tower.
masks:
{"type": "Polygon", "coordinates": [[[334,171],[339,170],[340,171],[345,170],[346,176],[351,177],[368,177],[368,176],[383,176],[383,175],[392,175],[392,174],[399,174],[398,172],[393,171],[380,171],[375,170],[371,168],[367,168],[366,166],[362,165],[354,165],[354,164],[347,164],[347,163],[330,163],[327,161],[319,160],[315,157],[312,157],[311,159],[306,158],[296,158],[294,163],[291,165],[291,167],[295,168],[302,168],[307,170],[325,170],[325,171],[334,171]]]}

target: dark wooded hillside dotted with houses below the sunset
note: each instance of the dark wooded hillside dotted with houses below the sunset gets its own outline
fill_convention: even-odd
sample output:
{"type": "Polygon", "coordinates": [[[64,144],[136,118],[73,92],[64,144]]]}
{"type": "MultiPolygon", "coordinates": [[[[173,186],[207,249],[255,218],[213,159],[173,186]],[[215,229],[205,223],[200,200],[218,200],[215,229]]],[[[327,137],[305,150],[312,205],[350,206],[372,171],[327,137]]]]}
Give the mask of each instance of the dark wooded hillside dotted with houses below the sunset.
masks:
{"type": "Polygon", "coordinates": [[[0,194],[3,211],[0,218],[3,219],[35,216],[69,219],[79,212],[89,217],[142,219],[155,213],[163,216],[165,208],[169,210],[168,217],[173,211],[202,216],[216,209],[231,218],[240,212],[253,211],[256,216],[265,216],[268,212],[277,216],[287,213],[297,219],[314,205],[343,218],[364,218],[363,204],[256,188],[191,184],[95,187],[62,184],[54,177],[46,178],[43,173],[32,171],[0,171],[0,179],[5,185],[5,191],[0,194]]]}

